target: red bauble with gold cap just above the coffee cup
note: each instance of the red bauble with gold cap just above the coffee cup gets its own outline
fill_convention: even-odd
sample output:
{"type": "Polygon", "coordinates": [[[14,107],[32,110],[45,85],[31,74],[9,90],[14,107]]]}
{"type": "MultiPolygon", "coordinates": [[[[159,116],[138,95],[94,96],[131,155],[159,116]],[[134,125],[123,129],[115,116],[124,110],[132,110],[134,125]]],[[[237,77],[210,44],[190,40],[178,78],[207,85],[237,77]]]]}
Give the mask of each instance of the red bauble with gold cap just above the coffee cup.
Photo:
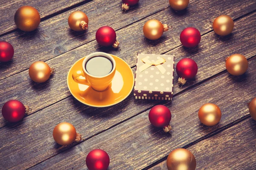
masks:
{"type": "Polygon", "coordinates": [[[116,32],[110,26],[102,26],[96,32],[96,40],[101,46],[113,46],[118,48],[119,42],[116,40],[116,32]]]}

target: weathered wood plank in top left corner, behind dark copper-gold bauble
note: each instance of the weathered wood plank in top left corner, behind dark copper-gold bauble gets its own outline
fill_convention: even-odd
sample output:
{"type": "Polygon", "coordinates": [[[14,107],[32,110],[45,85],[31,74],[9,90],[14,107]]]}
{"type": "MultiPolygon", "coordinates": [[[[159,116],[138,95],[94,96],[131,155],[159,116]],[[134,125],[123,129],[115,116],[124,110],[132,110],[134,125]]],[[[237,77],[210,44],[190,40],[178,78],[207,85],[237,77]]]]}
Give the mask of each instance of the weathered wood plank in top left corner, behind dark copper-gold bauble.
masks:
{"type": "Polygon", "coordinates": [[[21,6],[33,6],[43,18],[81,2],[83,0],[0,0],[0,35],[17,28],[14,14],[21,6]]]}

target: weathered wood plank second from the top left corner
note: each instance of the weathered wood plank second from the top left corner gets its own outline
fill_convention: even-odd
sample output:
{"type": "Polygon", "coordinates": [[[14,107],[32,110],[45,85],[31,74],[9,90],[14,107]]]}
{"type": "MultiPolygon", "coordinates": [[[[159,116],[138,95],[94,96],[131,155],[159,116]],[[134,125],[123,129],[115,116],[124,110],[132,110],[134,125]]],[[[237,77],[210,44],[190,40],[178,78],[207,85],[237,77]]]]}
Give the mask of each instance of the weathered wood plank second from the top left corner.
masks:
{"type": "MultiPolygon", "coordinates": [[[[95,40],[95,33],[101,26],[108,25],[115,30],[121,29],[168,7],[169,3],[140,0],[138,6],[125,13],[121,10],[121,4],[121,0],[93,0],[41,22],[38,29],[33,32],[16,31],[1,37],[1,40],[6,40],[14,46],[15,55],[9,63],[0,63],[0,79],[28,69],[35,61],[47,61],[95,40]],[[85,12],[89,17],[89,29],[85,32],[74,32],[68,26],[67,19],[71,12],[76,10],[85,12]]],[[[242,13],[250,10],[247,6],[242,13]]],[[[121,39],[122,35],[117,34],[117,37],[121,39]]]]}

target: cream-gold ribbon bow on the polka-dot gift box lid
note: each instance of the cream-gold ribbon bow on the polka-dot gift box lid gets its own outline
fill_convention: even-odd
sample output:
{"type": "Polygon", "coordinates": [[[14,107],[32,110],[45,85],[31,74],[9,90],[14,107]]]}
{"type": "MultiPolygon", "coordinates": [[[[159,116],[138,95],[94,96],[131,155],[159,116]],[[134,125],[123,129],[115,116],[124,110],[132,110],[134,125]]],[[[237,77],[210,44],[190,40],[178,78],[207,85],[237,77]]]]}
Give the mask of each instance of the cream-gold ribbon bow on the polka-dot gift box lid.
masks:
{"type": "Polygon", "coordinates": [[[165,63],[166,60],[164,58],[160,58],[155,62],[151,62],[149,61],[147,58],[143,58],[141,59],[141,61],[143,61],[145,64],[143,64],[142,66],[139,67],[140,72],[143,72],[145,69],[147,69],[148,67],[151,66],[156,66],[157,69],[159,69],[159,71],[164,74],[166,72],[166,69],[161,65],[162,63],[165,63]]]}

